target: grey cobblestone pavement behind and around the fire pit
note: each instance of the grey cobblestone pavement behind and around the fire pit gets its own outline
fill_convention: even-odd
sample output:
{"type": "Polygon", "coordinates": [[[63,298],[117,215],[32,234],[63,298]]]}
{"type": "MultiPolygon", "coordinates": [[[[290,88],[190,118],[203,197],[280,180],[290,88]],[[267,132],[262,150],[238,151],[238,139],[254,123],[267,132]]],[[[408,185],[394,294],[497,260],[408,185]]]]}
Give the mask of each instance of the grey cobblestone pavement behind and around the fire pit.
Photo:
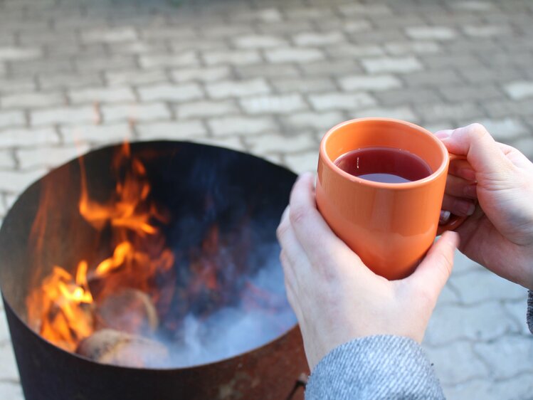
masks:
{"type": "MultiPolygon", "coordinates": [[[[0,0],[0,214],[125,138],[300,172],[327,128],[387,116],[482,122],[531,158],[532,17],[528,0],[0,0]]],[[[525,296],[458,256],[424,344],[450,399],[532,398],[525,296]]],[[[22,399],[4,317],[0,359],[0,398],[22,399]]]]}

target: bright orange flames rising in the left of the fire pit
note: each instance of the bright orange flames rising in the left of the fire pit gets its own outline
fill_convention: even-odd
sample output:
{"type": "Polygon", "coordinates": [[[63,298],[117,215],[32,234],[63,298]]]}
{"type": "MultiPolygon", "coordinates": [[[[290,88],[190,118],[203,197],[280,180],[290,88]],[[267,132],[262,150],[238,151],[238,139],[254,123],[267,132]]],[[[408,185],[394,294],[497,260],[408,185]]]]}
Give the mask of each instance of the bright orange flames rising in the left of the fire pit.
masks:
{"type": "Polygon", "coordinates": [[[129,144],[122,146],[113,161],[120,179],[105,204],[90,199],[83,159],[80,166],[80,215],[98,231],[110,229],[112,254],[94,266],[79,260],[74,275],[54,266],[26,298],[33,329],[69,351],[93,334],[95,303],[122,288],[134,288],[157,304],[160,295],[154,279],[174,264],[174,255],[157,226],[167,218],[150,199],[147,171],[132,157],[129,144]]]}

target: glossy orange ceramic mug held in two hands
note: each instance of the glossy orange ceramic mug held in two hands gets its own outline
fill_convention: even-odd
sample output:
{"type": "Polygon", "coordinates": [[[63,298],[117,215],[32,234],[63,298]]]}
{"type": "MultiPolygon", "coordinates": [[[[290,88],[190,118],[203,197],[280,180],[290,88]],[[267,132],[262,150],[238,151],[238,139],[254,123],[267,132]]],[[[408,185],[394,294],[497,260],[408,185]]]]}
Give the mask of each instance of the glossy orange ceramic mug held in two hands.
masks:
{"type": "Polygon", "coordinates": [[[457,228],[452,216],[439,226],[450,157],[423,127],[389,118],[362,118],[332,127],[320,142],[317,207],[329,227],[374,273],[389,280],[410,275],[439,231],[457,228]],[[334,164],[365,147],[392,147],[421,157],[431,175],[401,184],[369,181],[334,164]]]}

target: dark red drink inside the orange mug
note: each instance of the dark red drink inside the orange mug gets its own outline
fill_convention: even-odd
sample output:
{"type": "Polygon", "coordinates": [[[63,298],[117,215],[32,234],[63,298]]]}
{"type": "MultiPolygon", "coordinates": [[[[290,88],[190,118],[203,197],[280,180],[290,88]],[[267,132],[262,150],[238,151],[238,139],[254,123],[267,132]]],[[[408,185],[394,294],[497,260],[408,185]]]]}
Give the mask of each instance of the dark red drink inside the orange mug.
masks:
{"type": "Polygon", "coordinates": [[[387,184],[418,181],[432,174],[428,164],[406,150],[366,147],[342,154],[335,165],[362,179],[387,184]]]}

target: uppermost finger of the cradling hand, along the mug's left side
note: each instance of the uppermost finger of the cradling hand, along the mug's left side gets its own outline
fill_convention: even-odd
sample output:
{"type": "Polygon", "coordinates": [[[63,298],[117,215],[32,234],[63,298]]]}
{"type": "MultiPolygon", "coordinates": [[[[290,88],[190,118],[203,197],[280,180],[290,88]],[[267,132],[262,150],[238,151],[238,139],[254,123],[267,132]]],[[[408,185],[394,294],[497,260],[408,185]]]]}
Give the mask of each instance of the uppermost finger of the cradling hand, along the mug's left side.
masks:
{"type": "MultiPolygon", "coordinates": [[[[329,228],[317,210],[312,174],[304,174],[290,195],[290,224],[297,241],[317,267],[329,268],[343,254],[357,257],[329,228]]],[[[359,260],[359,258],[357,257],[359,260]]]]}

